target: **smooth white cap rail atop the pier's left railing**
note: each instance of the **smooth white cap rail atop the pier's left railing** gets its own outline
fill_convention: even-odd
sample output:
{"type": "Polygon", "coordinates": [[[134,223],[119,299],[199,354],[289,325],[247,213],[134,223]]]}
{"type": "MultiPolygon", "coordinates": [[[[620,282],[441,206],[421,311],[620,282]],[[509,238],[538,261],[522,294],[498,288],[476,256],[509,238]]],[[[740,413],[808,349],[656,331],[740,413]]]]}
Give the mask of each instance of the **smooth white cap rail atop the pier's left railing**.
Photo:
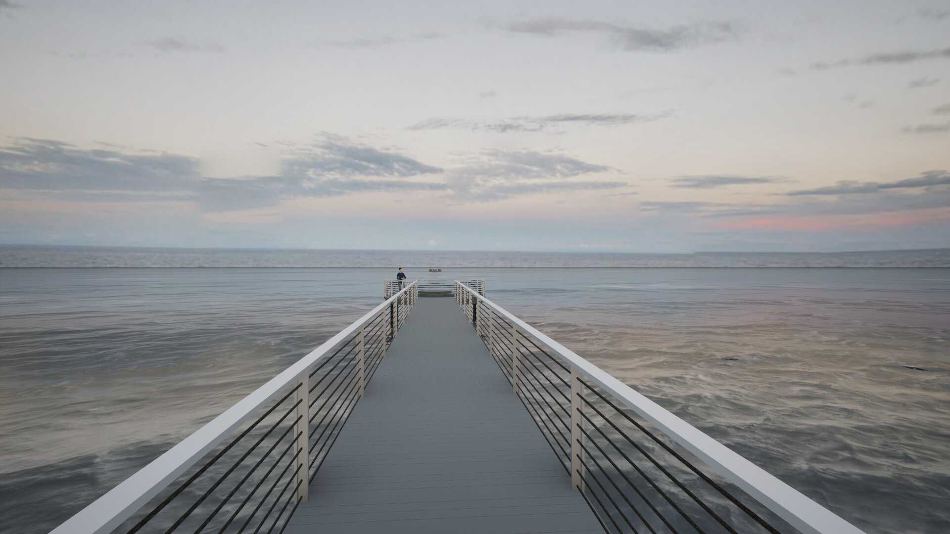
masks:
{"type": "Polygon", "coordinates": [[[188,467],[192,467],[211,449],[224,441],[242,423],[255,415],[277,395],[295,385],[301,375],[333,348],[364,326],[374,315],[383,311],[390,302],[408,292],[415,282],[409,283],[402,291],[390,296],[382,304],[366,315],[356,319],[339,334],[326,340],[319,347],[300,358],[295,364],[268,380],[263,386],[237,401],[237,404],[222,412],[210,422],[147,466],[136,471],[119,486],[113,487],[92,504],[85,506],[66,523],[54,528],[50,534],[105,534],[111,532],[136,510],[145,505],[163,488],[175,481],[188,467]]]}

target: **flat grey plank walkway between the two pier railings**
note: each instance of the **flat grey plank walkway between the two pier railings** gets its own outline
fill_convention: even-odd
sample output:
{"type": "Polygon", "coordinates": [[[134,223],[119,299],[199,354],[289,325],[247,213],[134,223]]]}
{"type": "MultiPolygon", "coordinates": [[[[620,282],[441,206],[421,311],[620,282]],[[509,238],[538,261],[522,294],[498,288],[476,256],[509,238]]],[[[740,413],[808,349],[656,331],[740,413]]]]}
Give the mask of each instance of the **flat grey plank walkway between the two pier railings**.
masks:
{"type": "Polygon", "coordinates": [[[285,532],[603,530],[455,300],[424,298],[285,532]]]}

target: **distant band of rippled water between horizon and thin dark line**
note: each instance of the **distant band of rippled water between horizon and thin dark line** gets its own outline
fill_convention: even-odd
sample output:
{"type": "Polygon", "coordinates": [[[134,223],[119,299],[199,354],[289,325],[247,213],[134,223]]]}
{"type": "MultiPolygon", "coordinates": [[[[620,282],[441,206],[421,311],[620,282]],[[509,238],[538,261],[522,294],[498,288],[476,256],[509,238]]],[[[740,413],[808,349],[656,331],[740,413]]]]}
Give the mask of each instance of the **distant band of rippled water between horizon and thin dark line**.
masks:
{"type": "Polygon", "coordinates": [[[950,249],[838,253],[608,254],[173,249],[0,245],[2,267],[950,267],[950,249]]]}

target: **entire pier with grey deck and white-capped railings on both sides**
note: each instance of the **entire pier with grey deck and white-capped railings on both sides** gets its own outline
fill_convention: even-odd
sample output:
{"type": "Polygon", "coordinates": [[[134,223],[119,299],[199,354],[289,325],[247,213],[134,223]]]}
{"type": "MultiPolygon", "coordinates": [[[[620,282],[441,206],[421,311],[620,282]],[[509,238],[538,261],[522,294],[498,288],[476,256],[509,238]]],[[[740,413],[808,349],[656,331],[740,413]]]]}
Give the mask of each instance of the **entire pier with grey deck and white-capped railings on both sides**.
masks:
{"type": "Polygon", "coordinates": [[[862,532],[481,280],[384,295],[53,533],[862,532]]]}

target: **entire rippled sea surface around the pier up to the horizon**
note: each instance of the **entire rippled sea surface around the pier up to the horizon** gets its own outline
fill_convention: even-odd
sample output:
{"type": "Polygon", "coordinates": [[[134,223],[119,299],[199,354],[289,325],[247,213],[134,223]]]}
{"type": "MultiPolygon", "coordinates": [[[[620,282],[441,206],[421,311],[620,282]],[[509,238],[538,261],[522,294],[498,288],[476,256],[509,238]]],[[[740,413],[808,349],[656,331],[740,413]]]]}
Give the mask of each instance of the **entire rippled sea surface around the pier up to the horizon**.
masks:
{"type": "Polygon", "coordinates": [[[61,523],[379,303],[400,262],[484,277],[509,311],[869,533],[950,531],[950,269],[558,267],[947,266],[946,250],[0,247],[5,266],[229,261],[363,267],[0,269],[0,532],[61,523]]]}

